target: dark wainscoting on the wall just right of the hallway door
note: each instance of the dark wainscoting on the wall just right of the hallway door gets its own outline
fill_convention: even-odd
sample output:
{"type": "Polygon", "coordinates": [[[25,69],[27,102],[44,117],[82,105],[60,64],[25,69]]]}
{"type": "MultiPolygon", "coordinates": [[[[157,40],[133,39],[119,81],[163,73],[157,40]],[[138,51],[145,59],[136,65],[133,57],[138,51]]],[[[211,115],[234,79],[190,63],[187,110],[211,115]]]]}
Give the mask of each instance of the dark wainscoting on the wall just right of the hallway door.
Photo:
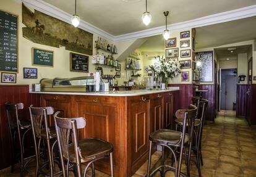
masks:
{"type": "Polygon", "coordinates": [[[247,104],[247,84],[237,84],[236,95],[236,116],[246,116],[246,104],[247,104]]]}

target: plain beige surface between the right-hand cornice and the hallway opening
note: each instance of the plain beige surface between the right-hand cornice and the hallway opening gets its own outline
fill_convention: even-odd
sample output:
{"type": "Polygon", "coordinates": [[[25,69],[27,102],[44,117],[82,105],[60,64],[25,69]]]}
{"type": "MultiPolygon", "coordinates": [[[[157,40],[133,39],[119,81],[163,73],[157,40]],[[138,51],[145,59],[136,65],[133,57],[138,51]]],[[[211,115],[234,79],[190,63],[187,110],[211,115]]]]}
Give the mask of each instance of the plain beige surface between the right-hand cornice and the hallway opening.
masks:
{"type": "Polygon", "coordinates": [[[256,39],[256,17],[196,28],[196,48],[222,46],[256,39]]]}

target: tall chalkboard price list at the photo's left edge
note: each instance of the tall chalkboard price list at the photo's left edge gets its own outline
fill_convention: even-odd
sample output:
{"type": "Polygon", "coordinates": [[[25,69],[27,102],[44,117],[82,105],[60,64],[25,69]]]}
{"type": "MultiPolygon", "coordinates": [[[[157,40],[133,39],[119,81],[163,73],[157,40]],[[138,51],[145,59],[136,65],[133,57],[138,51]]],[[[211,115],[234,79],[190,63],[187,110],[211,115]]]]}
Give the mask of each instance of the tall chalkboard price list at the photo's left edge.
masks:
{"type": "Polygon", "coordinates": [[[18,16],[1,10],[0,71],[18,72],[18,16]]]}

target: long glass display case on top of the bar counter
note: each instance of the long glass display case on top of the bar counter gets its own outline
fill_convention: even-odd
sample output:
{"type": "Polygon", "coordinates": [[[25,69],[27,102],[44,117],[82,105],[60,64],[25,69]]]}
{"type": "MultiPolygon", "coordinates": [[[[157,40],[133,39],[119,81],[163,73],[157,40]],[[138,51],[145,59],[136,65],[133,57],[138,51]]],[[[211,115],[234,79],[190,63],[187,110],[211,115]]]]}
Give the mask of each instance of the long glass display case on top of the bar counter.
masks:
{"type": "Polygon", "coordinates": [[[95,91],[94,76],[42,79],[41,91],[92,92],[95,91]]]}

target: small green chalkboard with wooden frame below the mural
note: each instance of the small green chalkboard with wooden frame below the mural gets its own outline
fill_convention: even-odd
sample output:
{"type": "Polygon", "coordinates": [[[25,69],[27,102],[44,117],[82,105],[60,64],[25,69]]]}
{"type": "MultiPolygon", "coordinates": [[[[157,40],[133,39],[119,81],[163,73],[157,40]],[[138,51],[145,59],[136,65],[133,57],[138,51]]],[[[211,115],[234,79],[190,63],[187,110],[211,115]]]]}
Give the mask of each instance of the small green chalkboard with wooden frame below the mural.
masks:
{"type": "Polygon", "coordinates": [[[32,65],[53,67],[53,51],[32,48],[32,65]]]}

